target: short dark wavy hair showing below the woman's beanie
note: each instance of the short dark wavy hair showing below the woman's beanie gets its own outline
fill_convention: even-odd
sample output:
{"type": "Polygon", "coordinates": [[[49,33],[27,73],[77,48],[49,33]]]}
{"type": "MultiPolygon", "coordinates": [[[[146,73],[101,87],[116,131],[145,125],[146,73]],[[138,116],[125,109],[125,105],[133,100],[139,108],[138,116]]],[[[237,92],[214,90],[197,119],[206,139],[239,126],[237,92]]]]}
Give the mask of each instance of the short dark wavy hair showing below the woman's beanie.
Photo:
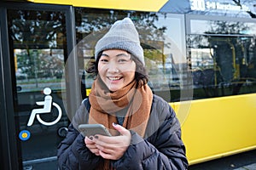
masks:
{"type": "MultiPolygon", "coordinates": [[[[88,67],[85,70],[86,72],[92,74],[95,78],[98,75],[98,63],[101,56],[102,56],[102,52],[98,54],[96,60],[91,59],[88,64],[88,67]]],[[[141,82],[143,82],[142,85],[148,83],[148,72],[146,68],[143,66],[143,63],[132,54],[131,54],[131,59],[136,64],[135,80],[137,82],[137,87],[140,85],[141,82]]]]}

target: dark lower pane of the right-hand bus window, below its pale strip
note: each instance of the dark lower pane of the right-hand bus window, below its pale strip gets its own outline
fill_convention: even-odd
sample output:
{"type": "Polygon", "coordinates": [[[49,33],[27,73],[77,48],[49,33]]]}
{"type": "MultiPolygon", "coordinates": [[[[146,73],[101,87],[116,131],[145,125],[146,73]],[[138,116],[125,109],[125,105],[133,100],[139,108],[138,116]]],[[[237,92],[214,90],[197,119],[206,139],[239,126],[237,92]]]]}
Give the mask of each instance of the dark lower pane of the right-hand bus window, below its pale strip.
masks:
{"type": "Polygon", "coordinates": [[[256,92],[256,37],[189,35],[195,99],[256,92]]]}

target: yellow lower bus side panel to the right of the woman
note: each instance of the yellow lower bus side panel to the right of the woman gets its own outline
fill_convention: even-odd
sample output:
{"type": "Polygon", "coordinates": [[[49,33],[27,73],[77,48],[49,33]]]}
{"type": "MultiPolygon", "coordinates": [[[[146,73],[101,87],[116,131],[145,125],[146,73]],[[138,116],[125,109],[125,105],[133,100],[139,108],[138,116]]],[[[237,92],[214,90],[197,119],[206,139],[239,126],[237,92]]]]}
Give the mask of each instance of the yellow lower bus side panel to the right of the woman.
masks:
{"type": "MultiPolygon", "coordinates": [[[[178,115],[183,102],[172,104],[178,115]]],[[[189,164],[256,148],[256,94],[191,102],[182,125],[189,164]]]]}

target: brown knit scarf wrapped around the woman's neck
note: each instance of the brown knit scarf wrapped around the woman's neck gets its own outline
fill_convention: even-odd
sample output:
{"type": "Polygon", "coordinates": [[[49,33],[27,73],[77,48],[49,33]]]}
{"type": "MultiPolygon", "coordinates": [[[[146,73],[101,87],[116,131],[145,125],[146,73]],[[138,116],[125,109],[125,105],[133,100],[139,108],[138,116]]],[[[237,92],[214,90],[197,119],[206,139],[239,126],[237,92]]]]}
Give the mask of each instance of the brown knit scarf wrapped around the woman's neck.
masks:
{"type": "MultiPolygon", "coordinates": [[[[89,123],[100,123],[108,128],[112,135],[119,135],[113,129],[112,123],[118,123],[115,113],[128,107],[123,127],[144,136],[148,123],[153,94],[148,84],[131,82],[124,88],[110,92],[101,78],[97,77],[92,85],[90,95],[89,123]]],[[[109,162],[104,163],[104,169],[111,169],[109,162]]]]}

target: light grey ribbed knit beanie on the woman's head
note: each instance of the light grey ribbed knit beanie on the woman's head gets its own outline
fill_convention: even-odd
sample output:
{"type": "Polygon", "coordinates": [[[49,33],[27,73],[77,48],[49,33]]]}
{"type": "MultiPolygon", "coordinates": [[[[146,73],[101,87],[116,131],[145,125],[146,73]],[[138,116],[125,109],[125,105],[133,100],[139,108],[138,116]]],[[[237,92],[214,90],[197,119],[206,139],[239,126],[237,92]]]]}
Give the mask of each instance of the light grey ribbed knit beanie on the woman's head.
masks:
{"type": "Polygon", "coordinates": [[[130,18],[113,23],[110,30],[96,43],[95,59],[100,52],[106,49],[123,49],[133,54],[145,65],[139,35],[130,18]]]}

